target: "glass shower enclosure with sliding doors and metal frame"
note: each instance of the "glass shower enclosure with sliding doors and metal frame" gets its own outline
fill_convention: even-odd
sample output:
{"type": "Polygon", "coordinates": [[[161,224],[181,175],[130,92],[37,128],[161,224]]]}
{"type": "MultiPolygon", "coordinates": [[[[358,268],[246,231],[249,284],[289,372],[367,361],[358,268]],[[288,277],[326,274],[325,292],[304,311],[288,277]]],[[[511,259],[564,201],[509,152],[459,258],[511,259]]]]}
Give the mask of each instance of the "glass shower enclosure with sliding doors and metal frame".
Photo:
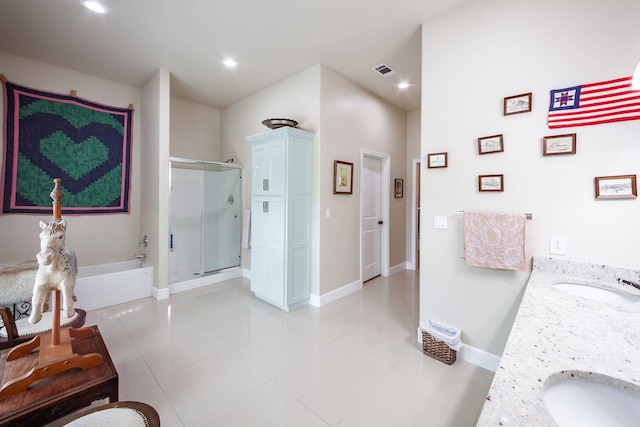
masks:
{"type": "Polygon", "coordinates": [[[240,265],[242,166],[171,157],[169,281],[240,265]]]}

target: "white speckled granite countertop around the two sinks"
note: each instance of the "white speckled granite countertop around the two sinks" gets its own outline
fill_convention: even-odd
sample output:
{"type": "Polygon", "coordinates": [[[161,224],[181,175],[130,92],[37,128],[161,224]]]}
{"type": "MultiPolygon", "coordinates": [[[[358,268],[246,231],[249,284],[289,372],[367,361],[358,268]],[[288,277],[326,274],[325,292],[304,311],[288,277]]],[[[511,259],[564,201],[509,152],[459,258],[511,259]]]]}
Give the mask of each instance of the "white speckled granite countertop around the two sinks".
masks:
{"type": "Polygon", "coordinates": [[[556,425],[543,400],[552,375],[558,380],[593,373],[596,381],[623,380],[640,390],[640,302],[594,301],[553,286],[589,284],[640,300],[640,290],[616,282],[621,277],[639,283],[640,268],[540,256],[533,264],[478,426],[556,425]]]}

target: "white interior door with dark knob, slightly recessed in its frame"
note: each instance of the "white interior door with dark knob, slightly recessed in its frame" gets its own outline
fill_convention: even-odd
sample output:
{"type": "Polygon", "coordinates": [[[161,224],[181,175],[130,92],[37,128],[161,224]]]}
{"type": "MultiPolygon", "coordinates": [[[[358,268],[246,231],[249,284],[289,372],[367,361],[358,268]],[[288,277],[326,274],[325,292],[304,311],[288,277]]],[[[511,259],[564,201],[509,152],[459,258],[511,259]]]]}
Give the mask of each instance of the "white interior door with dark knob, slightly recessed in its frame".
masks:
{"type": "Polygon", "coordinates": [[[366,282],[380,275],[380,189],[382,162],[380,159],[364,156],[362,162],[362,281],[366,282]]]}

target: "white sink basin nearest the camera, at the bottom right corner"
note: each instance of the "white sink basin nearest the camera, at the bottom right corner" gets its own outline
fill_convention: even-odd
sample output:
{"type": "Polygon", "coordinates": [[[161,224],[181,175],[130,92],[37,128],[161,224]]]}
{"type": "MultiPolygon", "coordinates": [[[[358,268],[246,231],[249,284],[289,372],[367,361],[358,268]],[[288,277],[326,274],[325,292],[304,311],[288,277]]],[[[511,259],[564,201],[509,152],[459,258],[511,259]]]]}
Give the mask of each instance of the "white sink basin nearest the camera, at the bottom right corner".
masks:
{"type": "Polygon", "coordinates": [[[640,387],[620,383],[637,393],[581,378],[561,379],[545,387],[544,403],[560,427],[637,427],[640,387]]]}

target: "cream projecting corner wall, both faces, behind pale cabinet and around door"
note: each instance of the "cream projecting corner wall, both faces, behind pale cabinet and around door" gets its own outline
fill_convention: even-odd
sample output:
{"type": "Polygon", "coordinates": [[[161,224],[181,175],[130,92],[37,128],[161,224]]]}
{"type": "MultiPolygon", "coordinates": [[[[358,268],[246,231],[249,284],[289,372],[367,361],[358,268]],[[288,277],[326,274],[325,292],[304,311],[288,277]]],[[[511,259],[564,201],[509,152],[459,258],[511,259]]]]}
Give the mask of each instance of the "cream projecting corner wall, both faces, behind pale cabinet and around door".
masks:
{"type": "MultiPolygon", "coordinates": [[[[406,179],[406,114],[340,76],[317,65],[222,110],[222,154],[244,164],[244,203],[250,200],[251,149],[246,136],[267,129],[261,121],[284,117],[316,134],[313,180],[312,294],[360,280],[359,157],[360,149],[391,155],[391,180],[406,179]],[[354,194],[333,194],[333,161],[355,164],[354,194]],[[332,209],[332,219],[324,218],[332,209]]],[[[389,183],[392,185],[392,182],[389,183]]],[[[391,199],[391,265],[403,264],[405,204],[391,199]]],[[[250,269],[250,251],[242,266],[250,269]]]]}

